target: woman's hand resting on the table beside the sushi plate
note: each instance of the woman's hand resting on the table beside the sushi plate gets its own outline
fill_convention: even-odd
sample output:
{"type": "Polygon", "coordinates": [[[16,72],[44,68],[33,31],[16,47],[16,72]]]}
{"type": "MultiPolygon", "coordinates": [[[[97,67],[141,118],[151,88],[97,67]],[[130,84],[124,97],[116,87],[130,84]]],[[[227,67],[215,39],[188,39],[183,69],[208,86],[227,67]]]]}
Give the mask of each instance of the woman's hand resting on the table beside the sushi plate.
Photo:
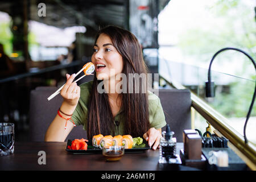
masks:
{"type": "Polygon", "coordinates": [[[156,150],[156,148],[159,148],[159,143],[160,139],[162,137],[161,134],[162,129],[156,130],[154,127],[151,127],[146,133],[144,133],[143,138],[148,142],[148,145],[151,147],[153,150],[156,150]]]}

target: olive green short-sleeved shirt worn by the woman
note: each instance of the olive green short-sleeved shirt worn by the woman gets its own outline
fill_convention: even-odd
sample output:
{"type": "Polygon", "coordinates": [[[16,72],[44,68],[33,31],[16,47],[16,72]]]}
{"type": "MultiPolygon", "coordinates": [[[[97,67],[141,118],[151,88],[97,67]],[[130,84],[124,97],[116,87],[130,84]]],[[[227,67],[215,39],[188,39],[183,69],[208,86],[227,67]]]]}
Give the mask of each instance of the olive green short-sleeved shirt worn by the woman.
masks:
{"type": "MultiPolygon", "coordinates": [[[[72,119],[75,124],[83,125],[83,129],[87,129],[87,118],[88,118],[88,102],[90,92],[92,90],[93,81],[85,82],[80,85],[80,99],[79,103],[76,106],[76,109],[72,115],[72,119]]],[[[160,129],[166,126],[166,119],[164,117],[163,108],[160,103],[160,99],[154,93],[148,91],[148,112],[149,112],[149,122],[150,127],[155,127],[155,129],[160,129]]],[[[119,121],[119,126],[115,125],[115,135],[123,135],[124,134],[124,119],[122,119],[122,111],[119,110],[117,115],[114,117],[114,121],[119,121]]]]}

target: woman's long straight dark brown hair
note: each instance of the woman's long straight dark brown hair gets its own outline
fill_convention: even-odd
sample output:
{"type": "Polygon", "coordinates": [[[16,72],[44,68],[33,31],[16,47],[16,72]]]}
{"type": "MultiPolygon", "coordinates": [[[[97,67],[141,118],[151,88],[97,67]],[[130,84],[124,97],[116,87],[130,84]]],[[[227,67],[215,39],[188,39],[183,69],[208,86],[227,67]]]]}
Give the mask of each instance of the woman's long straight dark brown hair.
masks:
{"type": "MultiPolygon", "coordinates": [[[[143,60],[142,48],[138,39],[131,32],[123,28],[108,26],[100,30],[96,36],[97,42],[100,34],[108,35],[112,40],[113,46],[122,55],[123,71],[127,77],[127,90],[129,90],[129,73],[147,73],[147,67],[143,60]]],[[[114,117],[109,105],[108,94],[98,93],[97,86],[102,80],[97,80],[94,76],[92,93],[88,105],[87,138],[92,139],[94,135],[114,135],[114,117]]],[[[147,86],[146,86],[147,88],[147,86]]],[[[142,92],[135,93],[135,84],[133,84],[133,93],[121,93],[123,109],[123,119],[125,121],[125,134],[132,137],[142,137],[149,129],[148,121],[148,94],[142,92]]]]}

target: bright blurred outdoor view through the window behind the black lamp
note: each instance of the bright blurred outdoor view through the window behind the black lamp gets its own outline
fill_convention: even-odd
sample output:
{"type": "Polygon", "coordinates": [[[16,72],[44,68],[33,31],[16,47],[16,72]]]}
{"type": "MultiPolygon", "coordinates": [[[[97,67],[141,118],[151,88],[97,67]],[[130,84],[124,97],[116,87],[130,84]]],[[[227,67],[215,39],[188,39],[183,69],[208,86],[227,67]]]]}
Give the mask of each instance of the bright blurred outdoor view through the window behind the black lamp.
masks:
{"type": "MultiPolygon", "coordinates": [[[[159,15],[160,55],[172,64],[170,68],[174,63],[183,64],[181,84],[228,118],[229,125],[241,135],[255,88],[251,61],[240,52],[222,52],[212,65],[216,97],[205,98],[204,82],[210,60],[221,48],[240,48],[256,60],[255,6],[253,0],[171,1],[159,15]],[[171,26],[165,27],[166,21],[171,26]]],[[[172,77],[179,78],[174,69],[171,72],[172,77]]],[[[256,107],[247,125],[254,143],[255,116],[256,107]]],[[[197,117],[197,120],[195,127],[205,130],[205,119],[197,117]]]]}

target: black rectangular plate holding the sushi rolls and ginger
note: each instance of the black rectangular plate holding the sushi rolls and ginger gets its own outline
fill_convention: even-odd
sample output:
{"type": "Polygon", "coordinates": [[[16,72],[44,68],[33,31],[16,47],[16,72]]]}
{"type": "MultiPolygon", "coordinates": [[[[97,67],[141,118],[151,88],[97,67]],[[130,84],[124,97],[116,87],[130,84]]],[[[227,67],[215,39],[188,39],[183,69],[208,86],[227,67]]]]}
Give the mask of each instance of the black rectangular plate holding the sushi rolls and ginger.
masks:
{"type": "MultiPolygon", "coordinates": [[[[101,152],[102,152],[102,150],[100,148],[94,147],[92,145],[92,139],[89,139],[88,142],[86,142],[88,144],[87,150],[68,149],[68,146],[71,146],[72,141],[73,140],[71,140],[71,139],[67,140],[65,150],[68,152],[72,152],[73,154],[101,154],[101,152]]],[[[125,153],[141,153],[150,148],[151,147],[148,146],[148,143],[146,142],[146,140],[143,139],[143,143],[141,145],[135,145],[133,148],[125,148],[125,153]],[[144,146],[142,146],[143,144],[144,144],[144,146]]]]}

